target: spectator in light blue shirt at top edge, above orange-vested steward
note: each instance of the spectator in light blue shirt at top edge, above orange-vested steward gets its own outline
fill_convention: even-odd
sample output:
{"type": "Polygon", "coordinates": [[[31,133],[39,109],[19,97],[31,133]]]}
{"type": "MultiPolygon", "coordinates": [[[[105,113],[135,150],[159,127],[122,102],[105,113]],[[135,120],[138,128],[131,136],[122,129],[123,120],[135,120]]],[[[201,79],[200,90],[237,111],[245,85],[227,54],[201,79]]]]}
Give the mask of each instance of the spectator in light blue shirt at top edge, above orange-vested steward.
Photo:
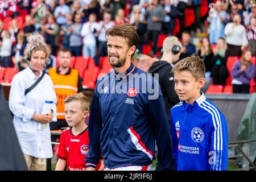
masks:
{"type": "Polygon", "coordinates": [[[59,24],[59,26],[67,23],[67,18],[65,17],[65,15],[67,15],[70,12],[71,10],[69,6],[65,5],[65,0],[60,0],[59,6],[57,6],[56,9],[54,10],[56,23],[59,24]]]}

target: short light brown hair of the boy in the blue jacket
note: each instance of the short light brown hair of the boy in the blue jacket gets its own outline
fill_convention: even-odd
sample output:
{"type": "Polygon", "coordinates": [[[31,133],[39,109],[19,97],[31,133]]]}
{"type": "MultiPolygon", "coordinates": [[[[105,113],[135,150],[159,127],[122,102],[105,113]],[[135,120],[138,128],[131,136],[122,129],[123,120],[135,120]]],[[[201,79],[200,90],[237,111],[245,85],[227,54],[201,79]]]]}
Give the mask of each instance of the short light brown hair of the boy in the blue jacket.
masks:
{"type": "Polygon", "coordinates": [[[205,78],[205,65],[204,61],[200,59],[199,56],[186,57],[183,60],[179,61],[172,68],[172,73],[188,71],[192,74],[196,80],[200,78],[205,78]]]}

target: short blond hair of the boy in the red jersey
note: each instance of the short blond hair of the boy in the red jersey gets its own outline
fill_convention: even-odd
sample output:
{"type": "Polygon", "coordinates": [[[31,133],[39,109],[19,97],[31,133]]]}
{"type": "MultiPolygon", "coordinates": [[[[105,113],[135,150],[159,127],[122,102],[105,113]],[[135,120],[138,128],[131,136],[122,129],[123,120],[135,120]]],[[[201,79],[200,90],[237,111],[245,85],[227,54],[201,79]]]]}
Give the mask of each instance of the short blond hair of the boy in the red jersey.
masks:
{"type": "Polygon", "coordinates": [[[84,94],[73,94],[64,100],[64,104],[68,104],[73,101],[80,101],[81,107],[83,111],[89,111],[90,100],[88,97],[84,96],[84,94]]]}

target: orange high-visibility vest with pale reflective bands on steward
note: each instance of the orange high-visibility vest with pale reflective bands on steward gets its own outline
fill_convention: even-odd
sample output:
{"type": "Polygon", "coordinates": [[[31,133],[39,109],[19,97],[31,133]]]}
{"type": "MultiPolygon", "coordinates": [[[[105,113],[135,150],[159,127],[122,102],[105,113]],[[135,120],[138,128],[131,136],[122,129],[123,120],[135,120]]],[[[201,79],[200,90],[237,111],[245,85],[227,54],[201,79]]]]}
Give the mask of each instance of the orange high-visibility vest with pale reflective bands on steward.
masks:
{"type": "Polygon", "coordinates": [[[55,68],[49,68],[49,76],[52,78],[57,96],[57,119],[65,119],[64,100],[77,93],[78,75],[77,69],[71,69],[69,75],[60,75],[55,68]]]}

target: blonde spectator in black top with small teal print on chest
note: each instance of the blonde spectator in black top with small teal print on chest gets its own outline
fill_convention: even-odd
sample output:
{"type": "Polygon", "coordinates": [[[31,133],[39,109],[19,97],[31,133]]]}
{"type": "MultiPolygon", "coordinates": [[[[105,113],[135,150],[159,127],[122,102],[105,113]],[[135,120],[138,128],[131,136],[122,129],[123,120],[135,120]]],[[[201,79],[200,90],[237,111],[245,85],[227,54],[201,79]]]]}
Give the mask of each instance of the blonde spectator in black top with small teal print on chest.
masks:
{"type": "Polygon", "coordinates": [[[229,56],[225,39],[219,38],[216,48],[213,48],[212,78],[215,85],[226,85],[226,78],[229,77],[226,61],[229,56]]]}

